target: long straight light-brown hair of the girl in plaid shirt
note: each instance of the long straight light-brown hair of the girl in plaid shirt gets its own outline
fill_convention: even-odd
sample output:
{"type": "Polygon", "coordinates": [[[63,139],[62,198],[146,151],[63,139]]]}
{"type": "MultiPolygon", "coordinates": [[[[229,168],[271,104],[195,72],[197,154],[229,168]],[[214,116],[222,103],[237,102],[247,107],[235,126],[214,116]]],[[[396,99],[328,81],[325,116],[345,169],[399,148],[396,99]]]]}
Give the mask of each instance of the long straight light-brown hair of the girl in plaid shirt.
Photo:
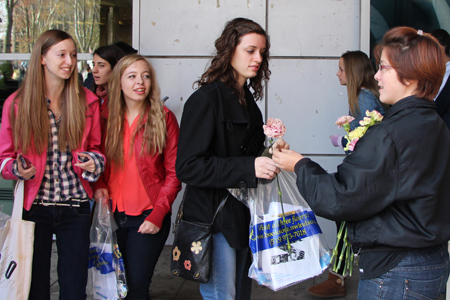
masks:
{"type": "MultiPolygon", "coordinates": [[[[11,105],[11,126],[15,151],[35,151],[41,154],[48,147],[50,122],[45,96],[45,73],[42,57],[54,45],[64,40],[75,41],[66,32],[52,29],[44,32],[36,41],[31,52],[27,75],[14,98],[18,105],[17,115],[11,105]]],[[[78,82],[75,64],[70,77],[64,82],[61,125],[58,131],[58,147],[71,150],[79,147],[86,123],[86,94],[78,82]]],[[[51,100],[51,99],[50,99],[51,100]]]]}

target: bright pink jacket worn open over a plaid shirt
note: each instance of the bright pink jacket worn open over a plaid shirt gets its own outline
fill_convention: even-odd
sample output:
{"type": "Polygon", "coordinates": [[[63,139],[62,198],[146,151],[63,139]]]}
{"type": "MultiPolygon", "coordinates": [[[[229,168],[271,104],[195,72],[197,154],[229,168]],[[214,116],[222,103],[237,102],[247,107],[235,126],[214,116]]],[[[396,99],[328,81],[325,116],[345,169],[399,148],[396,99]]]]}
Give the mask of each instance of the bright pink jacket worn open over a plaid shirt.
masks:
{"type": "MultiPolygon", "coordinates": [[[[86,92],[86,101],[88,105],[86,111],[86,127],[84,129],[81,147],[72,151],[72,164],[75,164],[77,162],[76,154],[78,152],[89,151],[101,154],[100,101],[98,97],[91,91],[87,89],[84,89],[84,91],[86,92]]],[[[10,123],[10,109],[15,95],[16,93],[9,96],[3,106],[2,125],[0,128],[0,164],[5,158],[11,157],[15,159],[17,157],[17,153],[14,151],[14,140],[12,136],[13,130],[10,123]]],[[[17,105],[15,109],[17,112],[17,105]]],[[[20,148],[18,149],[18,152],[22,152],[20,148]]],[[[103,156],[103,154],[101,155],[103,156]]],[[[39,187],[41,186],[42,179],[44,178],[47,151],[43,151],[41,154],[37,154],[34,151],[29,151],[28,153],[24,153],[24,156],[28,158],[36,167],[36,175],[34,179],[25,180],[25,199],[23,202],[23,207],[26,210],[30,210],[31,205],[39,191],[39,187]]],[[[12,160],[6,163],[6,166],[2,172],[2,176],[4,179],[17,179],[17,177],[12,173],[12,163],[12,160]]],[[[73,165],[73,168],[78,174],[81,183],[88,193],[89,197],[92,198],[93,192],[90,183],[84,180],[81,176],[83,170],[79,167],[76,167],[75,165],[73,165]]]]}

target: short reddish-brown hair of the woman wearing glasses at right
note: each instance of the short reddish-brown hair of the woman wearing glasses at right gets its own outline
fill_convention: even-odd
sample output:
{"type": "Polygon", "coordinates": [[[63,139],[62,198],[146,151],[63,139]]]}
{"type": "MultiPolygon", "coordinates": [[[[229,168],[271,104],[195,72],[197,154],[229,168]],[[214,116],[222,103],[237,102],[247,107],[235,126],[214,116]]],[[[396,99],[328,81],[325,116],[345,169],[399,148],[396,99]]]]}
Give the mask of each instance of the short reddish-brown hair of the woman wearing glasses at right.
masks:
{"type": "Polygon", "coordinates": [[[433,101],[445,74],[445,53],[439,42],[428,33],[411,27],[395,27],[375,46],[374,56],[380,63],[384,51],[398,80],[417,81],[416,96],[433,101]]]}

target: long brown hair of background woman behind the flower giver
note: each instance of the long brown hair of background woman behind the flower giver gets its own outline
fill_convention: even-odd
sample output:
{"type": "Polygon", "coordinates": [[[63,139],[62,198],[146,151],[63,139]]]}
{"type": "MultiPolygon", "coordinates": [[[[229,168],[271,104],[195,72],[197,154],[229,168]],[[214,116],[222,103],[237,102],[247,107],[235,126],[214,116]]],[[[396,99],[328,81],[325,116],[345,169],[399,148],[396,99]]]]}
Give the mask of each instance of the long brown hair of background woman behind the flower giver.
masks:
{"type": "Polygon", "coordinates": [[[345,77],[347,78],[347,95],[350,112],[353,116],[360,113],[358,95],[365,87],[372,94],[380,97],[375,72],[367,55],[362,51],[347,51],[342,56],[344,60],[345,77]]]}

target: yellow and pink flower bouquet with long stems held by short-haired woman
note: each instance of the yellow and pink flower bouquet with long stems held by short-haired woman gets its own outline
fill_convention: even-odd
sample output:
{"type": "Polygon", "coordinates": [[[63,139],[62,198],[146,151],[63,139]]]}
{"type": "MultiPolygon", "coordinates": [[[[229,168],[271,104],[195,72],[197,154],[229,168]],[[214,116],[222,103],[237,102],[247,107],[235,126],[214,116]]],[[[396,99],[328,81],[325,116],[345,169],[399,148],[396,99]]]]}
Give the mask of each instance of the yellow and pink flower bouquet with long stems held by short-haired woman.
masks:
{"type": "MultiPolygon", "coordinates": [[[[371,112],[369,112],[369,110],[366,110],[366,117],[364,117],[363,120],[359,121],[360,126],[350,131],[350,122],[352,122],[354,119],[355,118],[351,116],[342,116],[336,121],[336,125],[338,125],[339,128],[343,127],[347,132],[345,138],[347,139],[348,143],[344,147],[345,151],[352,152],[355,149],[356,143],[366,133],[367,129],[372,125],[380,123],[383,120],[383,116],[376,110],[372,110],[371,112]]],[[[344,263],[345,265],[342,275],[345,275],[345,273],[348,271],[351,276],[353,270],[353,257],[352,245],[350,244],[347,237],[347,227],[345,226],[345,222],[342,222],[337,234],[336,247],[333,249],[333,256],[331,257],[331,260],[334,259],[333,271],[337,272],[341,268],[341,265],[344,263]],[[336,257],[341,239],[341,254],[339,257],[336,257]],[[345,256],[347,258],[345,262],[343,262],[344,254],[346,254],[345,256]]]]}

